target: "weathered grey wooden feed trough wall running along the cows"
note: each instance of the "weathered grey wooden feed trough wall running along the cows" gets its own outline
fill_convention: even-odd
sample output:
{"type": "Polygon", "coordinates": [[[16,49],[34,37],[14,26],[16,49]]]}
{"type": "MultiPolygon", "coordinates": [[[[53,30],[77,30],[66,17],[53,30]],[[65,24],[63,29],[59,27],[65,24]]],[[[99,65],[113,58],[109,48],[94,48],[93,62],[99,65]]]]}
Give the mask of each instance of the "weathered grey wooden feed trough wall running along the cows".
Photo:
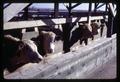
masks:
{"type": "Polygon", "coordinates": [[[20,68],[5,75],[6,79],[85,79],[87,75],[116,57],[116,34],[101,38],[88,46],[48,57],[47,63],[40,62],[32,67],[20,68]]]}

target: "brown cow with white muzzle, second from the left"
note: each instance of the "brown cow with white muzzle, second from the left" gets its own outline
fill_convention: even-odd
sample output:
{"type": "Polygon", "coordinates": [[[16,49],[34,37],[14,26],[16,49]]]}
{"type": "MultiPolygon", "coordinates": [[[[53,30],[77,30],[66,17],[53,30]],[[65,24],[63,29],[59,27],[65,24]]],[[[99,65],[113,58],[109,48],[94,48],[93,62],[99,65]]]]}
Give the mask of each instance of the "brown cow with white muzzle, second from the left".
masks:
{"type": "Polygon", "coordinates": [[[49,53],[54,52],[54,41],[55,41],[56,34],[52,31],[40,31],[37,37],[32,38],[35,44],[38,47],[38,52],[42,56],[47,56],[49,53]]]}

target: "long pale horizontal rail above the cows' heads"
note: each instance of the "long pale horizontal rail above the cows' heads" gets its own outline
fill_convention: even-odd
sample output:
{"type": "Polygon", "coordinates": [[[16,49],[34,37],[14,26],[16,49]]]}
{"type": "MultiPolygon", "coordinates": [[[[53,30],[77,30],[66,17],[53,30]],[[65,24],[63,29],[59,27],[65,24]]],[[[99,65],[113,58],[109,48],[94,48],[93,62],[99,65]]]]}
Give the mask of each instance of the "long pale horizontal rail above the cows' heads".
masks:
{"type": "MultiPolygon", "coordinates": [[[[17,22],[6,22],[4,23],[3,30],[9,29],[22,29],[22,28],[30,28],[37,26],[46,26],[46,25],[56,25],[56,24],[64,24],[70,22],[71,18],[53,18],[53,19],[41,19],[41,20],[32,20],[32,21],[17,21],[17,22]]],[[[91,20],[99,20],[103,19],[103,16],[92,16],[91,20]]],[[[82,22],[87,21],[87,17],[73,17],[72,22],[82,22]]]]}

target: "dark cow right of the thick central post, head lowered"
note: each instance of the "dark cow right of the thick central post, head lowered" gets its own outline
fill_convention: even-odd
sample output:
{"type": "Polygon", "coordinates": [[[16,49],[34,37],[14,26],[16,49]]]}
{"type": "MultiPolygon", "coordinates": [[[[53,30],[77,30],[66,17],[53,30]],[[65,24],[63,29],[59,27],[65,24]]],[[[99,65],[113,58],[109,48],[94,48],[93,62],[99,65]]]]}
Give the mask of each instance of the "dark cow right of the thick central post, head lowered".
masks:
{"type": "Polygon", "coordinates": [[[94,36],[93,36],[92,32],[88,29],[88,24],[79,23],[79,27],[76,28],[71,33],[69,47],[71,47],[78,40],[80,40],[80,45],[82,44],[83,41],[84,41],[85,45],[87,45],[88,44],[88,38],[92,38],[92,40],[94,39],[94,36]]]}

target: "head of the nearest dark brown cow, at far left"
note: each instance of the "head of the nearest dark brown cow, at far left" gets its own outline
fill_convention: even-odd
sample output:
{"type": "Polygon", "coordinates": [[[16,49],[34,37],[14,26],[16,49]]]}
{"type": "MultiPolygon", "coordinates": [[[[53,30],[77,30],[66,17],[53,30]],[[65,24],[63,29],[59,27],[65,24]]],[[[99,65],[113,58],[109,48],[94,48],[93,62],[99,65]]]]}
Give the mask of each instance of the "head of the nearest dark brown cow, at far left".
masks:
{"type": "Polygon", "coordinates": [[[36,45],[31,40],[19,41],[15,56],[10,59],[12,65],[38,63],[43,57],[38,53],[36,45]]]}

